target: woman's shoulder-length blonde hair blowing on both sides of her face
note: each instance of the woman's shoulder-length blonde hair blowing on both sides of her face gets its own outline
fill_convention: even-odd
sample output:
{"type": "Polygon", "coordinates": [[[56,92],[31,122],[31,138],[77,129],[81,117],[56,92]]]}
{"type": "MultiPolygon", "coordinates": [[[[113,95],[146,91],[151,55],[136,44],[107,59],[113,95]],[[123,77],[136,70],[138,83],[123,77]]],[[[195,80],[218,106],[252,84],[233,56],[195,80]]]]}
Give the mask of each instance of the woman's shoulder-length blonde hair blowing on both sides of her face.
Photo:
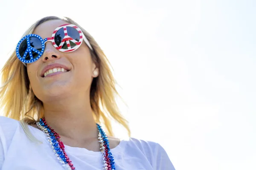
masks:
{"type": "MultiPolygon", "coordinates": [[[[68,17],[44,17],[34,23],[23,36],[32,34],[37,26],[48,20],[64,20],[81,28],[79,24],[68,17]]],[[[91,51],[91,57],[99,68],[99,76],[93,79],[90,88],[90,105],[94,119],[96,122],[105,125],[106,132],[110,136],[113,136],[111,119],[125,127],[130,136],[128,122],[120,114],[116,104],[115,97],[119,94],[116,91],[116,82],[111,72],[111,65],[93,37],[83,28],[81,30],[94,49],[94,51],[91,51]]],[[[0,107],[3,110],[3,116],[20,120],[29,139],[36,140],[29,132],[28,125],[35,124],[44,116],[44,108],[42,102],[33,93],[26,67],[17,59],[15,51],[3,66],[1,75],[0,107]]]]}

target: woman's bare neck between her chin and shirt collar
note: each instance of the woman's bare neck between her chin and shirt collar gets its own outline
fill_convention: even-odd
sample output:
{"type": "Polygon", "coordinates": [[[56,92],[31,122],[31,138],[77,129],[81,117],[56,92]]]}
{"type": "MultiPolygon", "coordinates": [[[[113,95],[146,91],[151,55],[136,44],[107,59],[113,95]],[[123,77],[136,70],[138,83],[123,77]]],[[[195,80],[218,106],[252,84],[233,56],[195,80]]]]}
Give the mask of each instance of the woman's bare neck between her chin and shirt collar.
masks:
{"type": "Polygon", "coordinates": [[[74,140],[97,137],[96,122],[90,107],[90,98],[61,99],[44,102],[44,117],[47,124],[59,133],[74,140]]]}

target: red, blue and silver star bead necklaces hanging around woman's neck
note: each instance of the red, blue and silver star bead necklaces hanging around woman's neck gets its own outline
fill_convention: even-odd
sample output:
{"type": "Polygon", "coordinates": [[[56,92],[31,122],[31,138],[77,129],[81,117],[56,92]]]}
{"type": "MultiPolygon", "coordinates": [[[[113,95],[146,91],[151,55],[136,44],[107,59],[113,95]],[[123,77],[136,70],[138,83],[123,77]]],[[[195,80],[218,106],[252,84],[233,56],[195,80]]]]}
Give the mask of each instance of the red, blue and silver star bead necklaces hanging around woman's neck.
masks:
{"type": "MultiPolygon", "coordinates": [[[[65,152],[65,146],[61,142],[61,137],[59,136],[59,134],[56,133],[51,127],[49,127],[49,125],[47,125],[44,118],[40,119],[40,121],[37,122],[36,125],[39,127],[40,130],[42,130],[45,133],[47,140],[51,145],[53,152],[55,153],[55,156],[57,157],[61,166],[65,170],[75,170],[74,165],[71,163],[72,161],[70,161],[69,157],[67,156],[67,153],[65,152]]],[[[102,130],[102,127],[99,124],[96,125],[99,131],[99,147],[102,153],[102,170],[115,170],[115,162],[112,153],[110,152],[108,137],[102,130]]]]}

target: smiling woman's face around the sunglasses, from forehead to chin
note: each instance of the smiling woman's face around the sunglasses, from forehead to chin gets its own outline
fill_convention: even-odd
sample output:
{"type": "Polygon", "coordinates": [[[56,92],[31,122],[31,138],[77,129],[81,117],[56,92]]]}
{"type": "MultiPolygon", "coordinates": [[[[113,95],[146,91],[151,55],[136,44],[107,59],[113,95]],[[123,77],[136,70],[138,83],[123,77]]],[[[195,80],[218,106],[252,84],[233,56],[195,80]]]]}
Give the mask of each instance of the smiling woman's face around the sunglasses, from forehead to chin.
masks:
{"type": "MultiPolygon", "coordinates": [[[[43,39],[52,37],[55,28],[63,24],[67,23],[62,20],[49,20],[39,25],[33,34],[38,34],[43,39]]],[[[42,57],[34,63],[27,64],[32,90],[42,102],[89,93],[95,69],[90,50],[84,42],[76,51],[69,53],[58,51],[51,42],[46,42],[42,57]],[[47,69],[48,75],[44,76],[47,66],[54,68],[47,69]],[[49,74],[52,72],[55,73],[49,74]]]]}

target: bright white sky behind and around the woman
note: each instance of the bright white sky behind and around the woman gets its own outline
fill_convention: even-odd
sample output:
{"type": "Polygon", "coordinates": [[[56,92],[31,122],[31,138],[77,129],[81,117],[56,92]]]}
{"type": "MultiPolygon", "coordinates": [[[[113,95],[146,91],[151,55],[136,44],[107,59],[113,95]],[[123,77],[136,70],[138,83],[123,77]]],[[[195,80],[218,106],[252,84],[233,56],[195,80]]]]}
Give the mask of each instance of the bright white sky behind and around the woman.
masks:
{"type": "Polygon", "coordinates": [[[255,0],[0,1],[0,66],[35,20],[71,17],[110,59],[132,137],[176,170],[256,169],[255,0]]]}

